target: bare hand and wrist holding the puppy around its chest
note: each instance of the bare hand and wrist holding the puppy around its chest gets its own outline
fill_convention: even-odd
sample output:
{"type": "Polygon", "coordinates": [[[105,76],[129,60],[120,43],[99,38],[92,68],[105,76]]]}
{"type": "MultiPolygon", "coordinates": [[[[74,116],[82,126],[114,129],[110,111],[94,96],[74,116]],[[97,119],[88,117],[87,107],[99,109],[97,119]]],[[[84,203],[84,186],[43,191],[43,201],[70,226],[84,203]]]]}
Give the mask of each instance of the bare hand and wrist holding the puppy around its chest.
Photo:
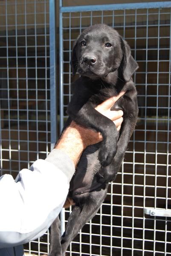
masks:
{"type": "MultiPolygon", "coordinates": [[[[97,111],[104,116],[107,116],[114,122],[118,131],[123,121],[123,112],[110,111],[110,108],[123,94],[124,93],[120,93],[118,96],[111,97],[96,107],[97,111]]],[[[79,158],[81,157],[82,151],[88,145],[96,144],[101,140],[103,140],[103,137],[100,132],[89,128],[84,128],[72,121],[63,132],[61,139],[55,145],[55,148],[61,149],[68,154],[76,166],[79,158]]]]}

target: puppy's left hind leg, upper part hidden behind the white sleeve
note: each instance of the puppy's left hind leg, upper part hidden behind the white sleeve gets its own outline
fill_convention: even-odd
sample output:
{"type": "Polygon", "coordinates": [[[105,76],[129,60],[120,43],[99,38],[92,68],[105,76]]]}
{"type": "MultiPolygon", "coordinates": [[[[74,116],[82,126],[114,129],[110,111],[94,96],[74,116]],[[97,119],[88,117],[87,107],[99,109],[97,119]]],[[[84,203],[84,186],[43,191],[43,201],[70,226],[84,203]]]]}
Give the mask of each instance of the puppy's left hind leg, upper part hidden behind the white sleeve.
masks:
{"type": "Polygon", "coordinates": [[[61,221],[59,217],[50,226],[50,253],[48,256],[62,256],[61,221]]]}

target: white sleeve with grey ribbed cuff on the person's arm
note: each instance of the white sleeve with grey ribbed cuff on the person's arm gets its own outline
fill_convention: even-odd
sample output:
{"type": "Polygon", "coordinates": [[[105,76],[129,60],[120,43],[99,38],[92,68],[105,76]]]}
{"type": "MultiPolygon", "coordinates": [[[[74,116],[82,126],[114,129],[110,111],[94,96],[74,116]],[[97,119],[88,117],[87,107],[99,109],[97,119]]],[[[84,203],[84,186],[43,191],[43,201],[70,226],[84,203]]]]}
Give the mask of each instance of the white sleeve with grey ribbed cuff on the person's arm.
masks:
{"type": "Polygon", "coordinates": [[[61,211],[75,172],[72,160],[53,149],[30,169],[0,177],[0,248],[42,236],[61,211]]]}

